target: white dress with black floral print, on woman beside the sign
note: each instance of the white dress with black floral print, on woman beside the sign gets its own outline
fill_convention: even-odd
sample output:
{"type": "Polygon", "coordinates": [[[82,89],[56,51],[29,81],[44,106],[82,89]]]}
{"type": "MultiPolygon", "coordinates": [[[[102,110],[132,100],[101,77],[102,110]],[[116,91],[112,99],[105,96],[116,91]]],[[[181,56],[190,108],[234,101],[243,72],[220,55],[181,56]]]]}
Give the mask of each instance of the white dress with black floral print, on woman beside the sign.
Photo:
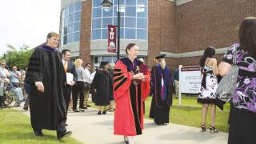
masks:
{"type": "Polygon", "coordinates": [[[198,93],[198,102],[215,103],[218,78],[213,74],[211,66],[205,66],[203,70],[202,84],[198,93]]]}

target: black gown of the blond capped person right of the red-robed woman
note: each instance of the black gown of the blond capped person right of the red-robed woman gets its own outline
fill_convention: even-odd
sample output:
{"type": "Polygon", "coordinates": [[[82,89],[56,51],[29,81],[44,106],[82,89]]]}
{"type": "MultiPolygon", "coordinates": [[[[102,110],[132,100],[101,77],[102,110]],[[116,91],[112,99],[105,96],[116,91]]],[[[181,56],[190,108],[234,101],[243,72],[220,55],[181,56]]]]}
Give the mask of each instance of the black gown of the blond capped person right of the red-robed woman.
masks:
{"type": "Polygon", "coordinates": [[[153,95],[150,118],[154,118],[154,122],[158,125],[169,123],[170,106],[172,105],[172,79],[170,69],[166,66],[165,70],[158,66],[154,66],[151,70],[151,95],[153,95]],[[162,90],[162,74],[166,79],[166,98],[161,96],[162,90]]]}

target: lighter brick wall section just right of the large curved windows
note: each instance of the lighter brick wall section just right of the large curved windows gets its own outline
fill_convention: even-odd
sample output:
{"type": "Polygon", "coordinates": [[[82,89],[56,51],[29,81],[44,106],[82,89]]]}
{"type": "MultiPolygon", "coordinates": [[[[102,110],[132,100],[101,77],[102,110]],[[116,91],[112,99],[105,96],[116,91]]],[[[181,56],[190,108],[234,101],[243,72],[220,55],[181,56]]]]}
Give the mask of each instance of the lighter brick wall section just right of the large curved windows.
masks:
{"type": "Polygon", "coordinates": [[[166,0],[148,0],[148,42],[147,62],[154,66],[154,56],[160,51],[175,53],[176,22],[175,3],[166,0]]]}

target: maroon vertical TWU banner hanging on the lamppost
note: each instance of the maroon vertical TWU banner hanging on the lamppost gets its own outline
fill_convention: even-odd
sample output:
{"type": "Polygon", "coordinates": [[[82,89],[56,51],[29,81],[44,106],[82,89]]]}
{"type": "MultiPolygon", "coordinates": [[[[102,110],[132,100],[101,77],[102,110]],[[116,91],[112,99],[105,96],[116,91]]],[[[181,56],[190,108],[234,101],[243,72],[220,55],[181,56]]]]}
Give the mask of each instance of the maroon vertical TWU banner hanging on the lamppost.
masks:
{"type": "Polygon", "coordinates": [[[110,53],[116,53],[116,28],[117,26],[108,25],[108,42],[107,42],[107,51],[110,53]]]}

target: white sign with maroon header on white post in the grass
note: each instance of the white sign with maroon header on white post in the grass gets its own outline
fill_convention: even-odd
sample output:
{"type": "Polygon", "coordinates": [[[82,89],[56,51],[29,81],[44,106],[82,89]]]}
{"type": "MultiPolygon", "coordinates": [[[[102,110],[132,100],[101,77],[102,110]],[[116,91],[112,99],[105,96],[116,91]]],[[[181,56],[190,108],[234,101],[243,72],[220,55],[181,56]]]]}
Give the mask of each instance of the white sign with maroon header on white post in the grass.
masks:
{"type": "Polygon", "coordinates": [[[182,104],[182,93],[198,94],[201,87],[201,66],[179,66],[178,103],[182,104]]]}

